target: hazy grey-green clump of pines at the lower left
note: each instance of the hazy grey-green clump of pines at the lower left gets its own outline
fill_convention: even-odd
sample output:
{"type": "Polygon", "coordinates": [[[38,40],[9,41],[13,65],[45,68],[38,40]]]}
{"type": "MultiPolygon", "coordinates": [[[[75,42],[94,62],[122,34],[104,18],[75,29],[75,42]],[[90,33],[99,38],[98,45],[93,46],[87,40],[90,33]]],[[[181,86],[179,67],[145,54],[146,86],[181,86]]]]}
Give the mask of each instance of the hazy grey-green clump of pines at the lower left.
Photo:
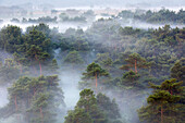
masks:
{"type": "Polygon", "coordinates": [[[20,77],[8,89],[10,99],[8,107],[2,110],[7,113],[1,112],[1,118],[22,114],[28,123],[55,122],[59,106],[64,103],[58,82],[57,75],[20,77]]]}

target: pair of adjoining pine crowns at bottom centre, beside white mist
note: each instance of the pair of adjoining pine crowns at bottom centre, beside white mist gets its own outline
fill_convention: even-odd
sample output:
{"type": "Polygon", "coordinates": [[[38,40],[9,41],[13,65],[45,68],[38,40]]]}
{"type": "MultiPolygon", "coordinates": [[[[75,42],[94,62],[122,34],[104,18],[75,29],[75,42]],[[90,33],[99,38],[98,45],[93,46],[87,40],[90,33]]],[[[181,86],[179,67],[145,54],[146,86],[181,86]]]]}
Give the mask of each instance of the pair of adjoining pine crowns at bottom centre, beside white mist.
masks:
{"type": "Polygon", "coordinates": [[[79,100],[74,110],[69,111],[64,123],[114,123],[120,118],[115,100],[99,94],[97,98],[90,89],[79,93],[79,100]]]}

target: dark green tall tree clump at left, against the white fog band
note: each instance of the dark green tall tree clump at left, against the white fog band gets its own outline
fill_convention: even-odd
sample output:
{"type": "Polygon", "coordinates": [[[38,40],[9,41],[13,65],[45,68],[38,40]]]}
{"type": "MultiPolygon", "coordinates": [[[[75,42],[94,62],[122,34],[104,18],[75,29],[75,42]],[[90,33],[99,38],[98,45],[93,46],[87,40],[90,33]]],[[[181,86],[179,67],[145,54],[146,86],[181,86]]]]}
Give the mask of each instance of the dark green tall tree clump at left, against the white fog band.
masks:
{"type": "Polygon", "coordinates": [[[28,65],[30,60],[49,60],[52,58],[51,40],[47,38],[49,33],[49,26],[45,24],[27,28],[25,35],[22,34],[20,27],[8,26],[0,32],[0,47],[14,53],[15,61],[22,64],[28,65]]]}

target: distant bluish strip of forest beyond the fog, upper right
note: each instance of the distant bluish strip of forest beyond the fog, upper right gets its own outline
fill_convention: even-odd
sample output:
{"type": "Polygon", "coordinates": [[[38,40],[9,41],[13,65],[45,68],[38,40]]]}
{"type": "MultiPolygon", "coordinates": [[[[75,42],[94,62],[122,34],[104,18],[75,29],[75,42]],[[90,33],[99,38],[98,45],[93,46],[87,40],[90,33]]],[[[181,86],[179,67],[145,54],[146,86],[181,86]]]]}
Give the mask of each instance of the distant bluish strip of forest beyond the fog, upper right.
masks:
{"type": "Polygon", "coordinates": [[[152,24],[173,24],[173,23],[180,23],[180,24],[185,24],[185,12],[183,9],[181,9],[178,12],[175,12],[173,10],[169,10],[165,8],[162,8],[160,11],[143,11],[143,10],[137,10],[135,12],[124,10],[119,13],[118,17],[123,17],[123,19],[134,19],[138,21],[144,21],[147,23],[152,23],[152,24]]]}

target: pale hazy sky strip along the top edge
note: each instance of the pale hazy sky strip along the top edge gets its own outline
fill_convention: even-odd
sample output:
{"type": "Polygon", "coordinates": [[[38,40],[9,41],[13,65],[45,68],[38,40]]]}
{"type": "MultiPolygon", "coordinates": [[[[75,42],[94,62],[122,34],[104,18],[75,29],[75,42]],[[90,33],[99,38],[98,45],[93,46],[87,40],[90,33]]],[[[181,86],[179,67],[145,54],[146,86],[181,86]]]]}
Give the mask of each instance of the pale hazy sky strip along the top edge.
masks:
{"type": "Polygon", "coordinates": [[[183,7],[184,0],[0,0],[0,5],[17,5],[24,3],[42,4],[49,3],[54,7],[87,7],[94,5],[128,5],[136,3],[145,3],[161,7],[183,7]]]}

